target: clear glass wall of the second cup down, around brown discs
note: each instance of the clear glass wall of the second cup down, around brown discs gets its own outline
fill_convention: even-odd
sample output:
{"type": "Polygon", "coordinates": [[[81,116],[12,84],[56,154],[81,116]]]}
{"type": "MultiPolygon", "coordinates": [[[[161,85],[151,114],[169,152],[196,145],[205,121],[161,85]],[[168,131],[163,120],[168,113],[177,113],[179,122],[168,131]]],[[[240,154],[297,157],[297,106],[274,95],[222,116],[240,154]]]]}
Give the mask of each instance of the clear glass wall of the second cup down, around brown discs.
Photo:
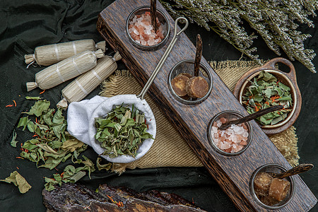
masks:
{"type": "Polygon", "coordinates": [[[186,60],[182,60],[179,61],[177,64],[175,64],[175,66],[173,66],[172,70],[169,73],[168,76],[168,86],[169,86],[169,90],[172,93],[172,96],[178,100],[179,102],[182,102],[184,104],[187,105],[194,105],[197,104],[199,102],[204,101],[206,98],[208,98],[208,95],[210,95],[211,90],[212,90],[212,86],[213,86],[213,78],[212,78],[212,74],[210,71],[208,71],[208,68],[200,63],[200,69],[199,69],[199,76],[203,77],[207,82],[208,82],[208,92],[206,93],[206,95],[204,95],[203,98],[187,98],[184,99],[182,97],[179,97],[176,93],[175,90],[173,90],[172,88],[172,79],[175,78],[179,73],[189,73],[192,76],[194,76],[194,59],[186,59],[186,60]]]}

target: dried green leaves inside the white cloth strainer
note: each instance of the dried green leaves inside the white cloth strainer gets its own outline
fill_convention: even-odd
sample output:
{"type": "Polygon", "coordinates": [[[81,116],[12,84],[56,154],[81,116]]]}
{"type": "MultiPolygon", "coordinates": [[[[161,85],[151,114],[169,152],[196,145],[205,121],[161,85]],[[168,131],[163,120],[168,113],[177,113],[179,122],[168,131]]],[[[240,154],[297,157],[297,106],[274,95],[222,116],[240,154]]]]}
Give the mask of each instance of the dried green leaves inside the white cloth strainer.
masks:
{"type": "Polygon", "coordinates": [[[116,106],[106,118],[95,118],[97,132],[95,139],[105,148],[103,155],[110,158],[118,155],[136,157],[139,146],[145,139],[153,139],[147,132],[144,114],[123,105],[116,106]]]}

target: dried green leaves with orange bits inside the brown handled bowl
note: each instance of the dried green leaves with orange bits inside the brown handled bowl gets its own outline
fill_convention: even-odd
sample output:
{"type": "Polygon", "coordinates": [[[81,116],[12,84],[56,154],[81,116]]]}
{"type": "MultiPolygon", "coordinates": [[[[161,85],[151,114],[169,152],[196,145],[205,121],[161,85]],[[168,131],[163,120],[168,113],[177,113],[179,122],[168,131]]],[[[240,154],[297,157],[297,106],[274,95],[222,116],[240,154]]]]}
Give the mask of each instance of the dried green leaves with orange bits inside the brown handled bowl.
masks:
{"type": "Polygon", "coordinates": [[[273,105],[284,106],[283,110],[270,112],[257,118],[263,125],[273,125],[283,121],[293,106],[290,88],[266,71],[261,71],[258,77],[253,78],[242,100],[249,114],[273,105]]]}

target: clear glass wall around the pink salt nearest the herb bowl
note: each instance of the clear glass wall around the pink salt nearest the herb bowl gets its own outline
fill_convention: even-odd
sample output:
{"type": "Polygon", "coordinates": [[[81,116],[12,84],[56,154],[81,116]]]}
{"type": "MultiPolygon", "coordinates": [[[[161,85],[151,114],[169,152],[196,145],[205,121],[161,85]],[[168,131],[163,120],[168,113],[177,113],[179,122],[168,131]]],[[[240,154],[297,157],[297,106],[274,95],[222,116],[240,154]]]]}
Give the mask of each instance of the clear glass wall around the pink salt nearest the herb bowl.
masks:
{"type": "Polygon", "coordinates": [[[218,114],[216,114],[213,119],[211,119],[211,122],[208,124],[208,140],[211,142],[211,145],[213,146],[213,148],[220,154],[222,155],[226,155],[226,156],[234,156],[234,155],[240,155],[242,152],[244,152],[250,145],[251,141],[252,141],[252,136],[253,136],[253,129],[252,129],[252,125],[249,122],[245,122],[245,125],[247,126],[247,131],[249,133],[249,136],[247,136],[247,144],[240,150],[237,151],[236,153],[227,153],[223,150],[221,150],[220,148],[218,148],[218,146],[216,146],[216,144],[213,141],[213,137],[212,137],[212,126],[213,126],[213,122],[216,122],[218,119],[220,118],[225,118],[225,119],[239,119],[244,117],[242,114],[240,114],[239,112],[233,111],[233,110],[225,110],[223,112],[220,112],[218,114]]]}

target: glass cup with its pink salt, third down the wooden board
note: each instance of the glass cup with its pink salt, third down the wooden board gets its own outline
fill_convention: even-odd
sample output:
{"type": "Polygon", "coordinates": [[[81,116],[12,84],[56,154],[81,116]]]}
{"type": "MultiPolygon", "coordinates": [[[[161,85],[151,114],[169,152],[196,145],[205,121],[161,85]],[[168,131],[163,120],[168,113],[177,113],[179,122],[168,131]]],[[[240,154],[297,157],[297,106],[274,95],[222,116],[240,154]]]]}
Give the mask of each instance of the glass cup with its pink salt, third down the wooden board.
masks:
{"type": "Polygon", "coordinates": [[[239,155],[244,152],[252,141],[252,126],[249,122],[232,124],[228,129],[220,130],[225,122],[243,117],[242,114],[226,110],[216,114],[208,124],[208,139],[213,148],[222,155],[239,155]]]}

